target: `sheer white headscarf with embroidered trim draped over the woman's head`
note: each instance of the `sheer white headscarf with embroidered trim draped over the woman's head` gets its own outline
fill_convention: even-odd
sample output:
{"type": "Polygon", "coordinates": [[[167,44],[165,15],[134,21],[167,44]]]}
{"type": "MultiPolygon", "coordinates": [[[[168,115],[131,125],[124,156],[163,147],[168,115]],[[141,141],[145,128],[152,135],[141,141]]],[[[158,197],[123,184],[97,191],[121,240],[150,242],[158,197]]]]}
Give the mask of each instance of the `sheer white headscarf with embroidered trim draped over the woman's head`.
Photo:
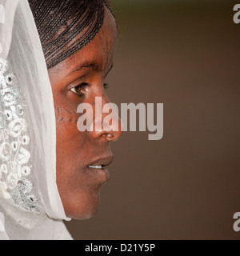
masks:
{"type": "Polygon", "coordinates": [[[27,0],[0,0],[0,239],[71,239],[56,183],[54,100],[27,0]]]}

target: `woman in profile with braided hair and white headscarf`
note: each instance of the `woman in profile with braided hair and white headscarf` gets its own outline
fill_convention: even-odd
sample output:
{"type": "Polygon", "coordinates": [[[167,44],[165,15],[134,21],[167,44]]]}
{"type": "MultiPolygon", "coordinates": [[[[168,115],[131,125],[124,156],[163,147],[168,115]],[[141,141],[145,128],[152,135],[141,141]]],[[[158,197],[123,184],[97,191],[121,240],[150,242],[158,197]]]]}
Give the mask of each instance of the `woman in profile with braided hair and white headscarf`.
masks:
{"type": "Polygon", "coordinates": [[[77,127],[79,104],[109,102],[114,16],[105,0],[2,2],[0,238],[70,239],[62,220],[94,215],[122,134],[77,127]]]}

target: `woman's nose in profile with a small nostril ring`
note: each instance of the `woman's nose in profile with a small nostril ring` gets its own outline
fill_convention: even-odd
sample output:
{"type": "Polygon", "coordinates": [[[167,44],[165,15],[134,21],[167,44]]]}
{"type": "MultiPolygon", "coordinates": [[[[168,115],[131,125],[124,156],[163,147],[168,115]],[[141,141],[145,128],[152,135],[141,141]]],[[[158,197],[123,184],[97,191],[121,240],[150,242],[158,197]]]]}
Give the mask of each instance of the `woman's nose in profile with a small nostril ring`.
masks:
{"type": "Polygon", "coordinates": [[[106,98],[96,97],[92,138],[103,138],[108,142],[118,140],[122,136],[121,123],[117,106],[110,103],[106,98]]]}

